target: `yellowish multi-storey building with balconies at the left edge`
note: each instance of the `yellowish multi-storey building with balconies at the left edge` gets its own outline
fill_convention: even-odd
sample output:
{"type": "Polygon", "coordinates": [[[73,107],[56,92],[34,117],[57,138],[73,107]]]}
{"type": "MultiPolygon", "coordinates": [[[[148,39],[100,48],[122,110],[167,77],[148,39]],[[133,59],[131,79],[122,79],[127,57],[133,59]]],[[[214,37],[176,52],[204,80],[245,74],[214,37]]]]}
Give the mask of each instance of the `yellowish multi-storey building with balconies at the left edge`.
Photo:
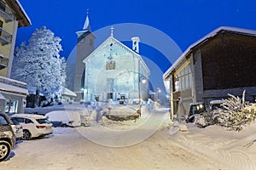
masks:
{"type": "Polygon", "coordinates": [[[10,79],[9,77],[14,58],[15,39],[18,26],[19,24],[20,26],[30,26],[31,23],[29,19],[26,18],[25,15],[23,15],[24,11],[21,12],[17,2],[11,0],[5,0],[2,2],[7,3],[9,5],[6,5],[4,8],[0,9],[2,10],[1,14],[3,14],[0,14],[0,20],[3,21],[3,31],[1,31],[0,35],[4,37],[3,32],[6,31],[9,33],[9,35],[11,35],[11,39],[10,42],[8,43],[0,43],[0,54],[3,54],[4,57],[8,58],[7,67],[0,70],[0,82],[2,84],[0,87],[0,93],[4,97],[4,99],[1,99],[0,101],[0,111],[11,111],[8,112],[8,114],[13,114],[14,111],[15,113],[23,113],[24,105],[26,104],[26,83],[15,81],[13,79],[10,79]],[[9,9],[8,7],[15,10],[15,17],[13,18],[14,20],[5,19],[7,16],[5,13],[9,9]],[[8,103],[15,103],[15,107],[14,105],[9,107],[8,103]],[[8,110],[8,107],[10,108],[10,110],[8,110]],[[14,110],[13,108],[16,109],[14,110]]]}

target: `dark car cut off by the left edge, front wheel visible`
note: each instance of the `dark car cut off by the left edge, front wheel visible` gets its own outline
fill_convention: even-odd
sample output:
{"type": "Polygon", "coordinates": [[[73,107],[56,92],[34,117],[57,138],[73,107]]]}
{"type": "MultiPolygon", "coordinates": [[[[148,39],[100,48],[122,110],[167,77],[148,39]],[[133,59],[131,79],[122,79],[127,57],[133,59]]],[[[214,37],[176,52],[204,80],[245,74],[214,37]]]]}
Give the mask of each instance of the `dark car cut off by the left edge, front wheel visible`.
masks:
{"type": "Polygon", "coordinates": [[[10,121],[9,116],[0,113],[0,161],[4,161],[15,147],[15,125],[10,121]]]}

